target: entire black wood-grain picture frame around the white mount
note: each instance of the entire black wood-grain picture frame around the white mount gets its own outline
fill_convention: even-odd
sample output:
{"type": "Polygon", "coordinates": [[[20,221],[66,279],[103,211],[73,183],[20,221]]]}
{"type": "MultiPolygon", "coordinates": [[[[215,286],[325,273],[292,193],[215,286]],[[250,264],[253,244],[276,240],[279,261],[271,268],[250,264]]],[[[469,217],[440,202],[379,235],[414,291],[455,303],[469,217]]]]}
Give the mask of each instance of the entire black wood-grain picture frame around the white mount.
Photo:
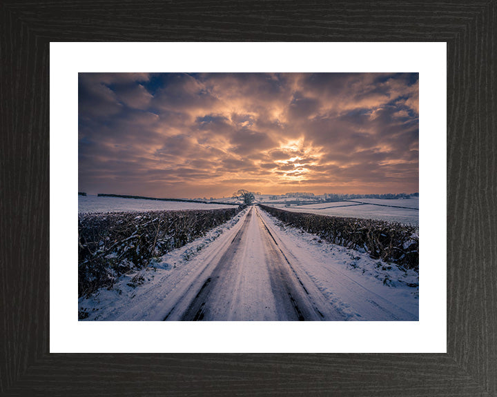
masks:
{"type": "Polygon", "coordinates": [[[1,2],[0,394],[497,396],[496,3],[1,2]],[[50,41],[447,41],[448,353],[49,354],[50,41]]]}

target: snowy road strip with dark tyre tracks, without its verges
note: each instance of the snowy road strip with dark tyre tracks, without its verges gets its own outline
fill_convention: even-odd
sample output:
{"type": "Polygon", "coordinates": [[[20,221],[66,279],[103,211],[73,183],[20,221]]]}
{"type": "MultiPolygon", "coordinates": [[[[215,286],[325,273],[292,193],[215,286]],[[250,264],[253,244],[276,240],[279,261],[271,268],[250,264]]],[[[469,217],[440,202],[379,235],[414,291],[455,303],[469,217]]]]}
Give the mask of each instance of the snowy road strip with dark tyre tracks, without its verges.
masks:
{"type": "Polygon", "coordinates": [[[304,286],[305,275],[295,272],[259,212],[257,207],[247,212],[240,230],[209,266],[212,272],[201,287],[182,296],[164,319],[343,319],[311,280],[304,286]]]}

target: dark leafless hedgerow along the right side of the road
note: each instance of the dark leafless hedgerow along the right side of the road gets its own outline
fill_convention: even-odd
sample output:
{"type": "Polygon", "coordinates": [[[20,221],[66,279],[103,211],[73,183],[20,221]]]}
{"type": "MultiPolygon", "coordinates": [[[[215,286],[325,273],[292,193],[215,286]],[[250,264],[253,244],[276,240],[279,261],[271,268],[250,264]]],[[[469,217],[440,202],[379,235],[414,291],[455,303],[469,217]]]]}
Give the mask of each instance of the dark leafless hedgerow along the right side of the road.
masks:
{"type": "Polygon", "coordinates": [[[290,212],[266,205],[260,207],[286,225],[318,234],[330,243],[353,250],[364,250],[371,258],[381,258],[407,269],[419,268],[419,238],[415,226],[372,219],[290,212]]]}

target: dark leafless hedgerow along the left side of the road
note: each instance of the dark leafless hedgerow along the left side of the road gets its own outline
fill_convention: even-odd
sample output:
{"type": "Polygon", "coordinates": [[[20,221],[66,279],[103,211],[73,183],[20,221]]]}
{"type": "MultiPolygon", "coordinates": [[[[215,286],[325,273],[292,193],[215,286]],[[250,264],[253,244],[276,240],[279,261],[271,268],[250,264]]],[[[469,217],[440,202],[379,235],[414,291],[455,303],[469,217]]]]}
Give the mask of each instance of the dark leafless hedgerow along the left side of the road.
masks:
{"type": "Polygon", "coordinates": [[[240,212],[221,210],[79,214],[78,294],[110,287],[153,258],[182,247],[240,212]]]}

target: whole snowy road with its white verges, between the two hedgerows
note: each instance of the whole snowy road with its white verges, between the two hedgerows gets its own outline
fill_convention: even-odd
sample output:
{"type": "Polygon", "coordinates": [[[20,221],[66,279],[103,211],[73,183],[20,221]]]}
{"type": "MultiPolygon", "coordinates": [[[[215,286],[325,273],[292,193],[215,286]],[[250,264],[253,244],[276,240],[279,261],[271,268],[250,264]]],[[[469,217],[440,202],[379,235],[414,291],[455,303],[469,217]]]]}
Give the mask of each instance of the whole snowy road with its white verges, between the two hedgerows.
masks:
{"type": "Polygon", "coordinates": [[[88,320],[418,320],[412,273],[282,227],[259,207],[200,247],[166,254],[144,285],[121,282],[119,296],[101,291],[80,309],[91,307],[88,320]]]}

